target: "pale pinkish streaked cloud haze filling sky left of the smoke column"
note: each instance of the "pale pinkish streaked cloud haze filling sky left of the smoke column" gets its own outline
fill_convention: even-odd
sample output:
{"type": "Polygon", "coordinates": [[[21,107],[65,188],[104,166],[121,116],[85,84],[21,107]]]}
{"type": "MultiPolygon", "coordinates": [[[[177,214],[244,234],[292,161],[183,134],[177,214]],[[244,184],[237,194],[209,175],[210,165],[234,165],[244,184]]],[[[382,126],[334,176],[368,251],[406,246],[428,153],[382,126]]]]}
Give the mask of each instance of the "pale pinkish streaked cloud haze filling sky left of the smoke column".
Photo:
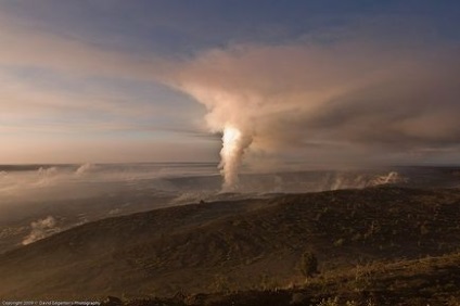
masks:
{"type": "Polygon", "coordinates": [[[209,141],[193,137],[202,111],[159,82],[176,67],[170,59],[44,31],[2,11],[0,41],[2,163],[215,160],[202,155],[209,141]]]}

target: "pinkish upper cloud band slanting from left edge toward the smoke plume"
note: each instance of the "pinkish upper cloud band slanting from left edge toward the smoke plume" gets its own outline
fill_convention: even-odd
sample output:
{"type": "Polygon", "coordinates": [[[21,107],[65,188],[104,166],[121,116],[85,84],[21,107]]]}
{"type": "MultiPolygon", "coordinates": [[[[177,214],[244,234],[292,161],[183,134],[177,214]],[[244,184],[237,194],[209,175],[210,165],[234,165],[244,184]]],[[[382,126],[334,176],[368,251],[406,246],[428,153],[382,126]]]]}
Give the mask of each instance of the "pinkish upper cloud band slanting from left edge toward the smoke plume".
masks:
{"type": "Polygon", "coordinates": [[[43,67],[82,76],[155,79],[168,62],[153,54],[129,54],[34,28],[0,12],[0,64],[43,67]]]}

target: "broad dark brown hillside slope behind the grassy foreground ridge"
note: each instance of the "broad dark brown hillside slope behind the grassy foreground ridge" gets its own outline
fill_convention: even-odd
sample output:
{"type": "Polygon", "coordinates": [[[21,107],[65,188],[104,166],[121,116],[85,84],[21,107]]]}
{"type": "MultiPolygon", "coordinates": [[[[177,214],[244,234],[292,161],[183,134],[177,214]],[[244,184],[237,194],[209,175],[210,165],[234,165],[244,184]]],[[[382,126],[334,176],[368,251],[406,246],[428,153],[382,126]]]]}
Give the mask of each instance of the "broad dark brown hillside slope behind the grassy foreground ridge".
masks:
{"type": "Polygon", "coordinates": [[[371,188],[193,204],[87,224],[0,256],[1,298],[247,290],[460,246],[460,191],[371,188]]]}

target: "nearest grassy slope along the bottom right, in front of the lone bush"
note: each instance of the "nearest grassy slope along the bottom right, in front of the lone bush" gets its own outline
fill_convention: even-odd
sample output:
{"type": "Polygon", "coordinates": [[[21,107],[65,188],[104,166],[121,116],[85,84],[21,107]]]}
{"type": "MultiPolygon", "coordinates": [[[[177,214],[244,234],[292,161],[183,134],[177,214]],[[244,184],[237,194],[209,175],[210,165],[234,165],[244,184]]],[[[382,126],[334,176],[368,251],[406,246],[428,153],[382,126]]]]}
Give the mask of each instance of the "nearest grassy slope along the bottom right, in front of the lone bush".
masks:
{"type": "Polygon", "coordinates": [[[460,254],[358,265],[285,289],[108,301],[119,306],[455,306],[460,304],[460,254]]]}

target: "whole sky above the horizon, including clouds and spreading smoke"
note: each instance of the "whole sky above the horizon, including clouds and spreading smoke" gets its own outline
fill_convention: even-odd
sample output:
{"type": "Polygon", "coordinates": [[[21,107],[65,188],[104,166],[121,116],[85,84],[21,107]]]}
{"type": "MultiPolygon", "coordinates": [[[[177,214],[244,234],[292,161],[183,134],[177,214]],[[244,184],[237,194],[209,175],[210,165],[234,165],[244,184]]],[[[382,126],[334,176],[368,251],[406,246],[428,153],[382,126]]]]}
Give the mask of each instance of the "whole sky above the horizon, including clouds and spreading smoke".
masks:
{"type": "Polygon", "coordinates": [[[459,15],[442,0],[0,0],[0,164],[458,164],[459,15]]]}

